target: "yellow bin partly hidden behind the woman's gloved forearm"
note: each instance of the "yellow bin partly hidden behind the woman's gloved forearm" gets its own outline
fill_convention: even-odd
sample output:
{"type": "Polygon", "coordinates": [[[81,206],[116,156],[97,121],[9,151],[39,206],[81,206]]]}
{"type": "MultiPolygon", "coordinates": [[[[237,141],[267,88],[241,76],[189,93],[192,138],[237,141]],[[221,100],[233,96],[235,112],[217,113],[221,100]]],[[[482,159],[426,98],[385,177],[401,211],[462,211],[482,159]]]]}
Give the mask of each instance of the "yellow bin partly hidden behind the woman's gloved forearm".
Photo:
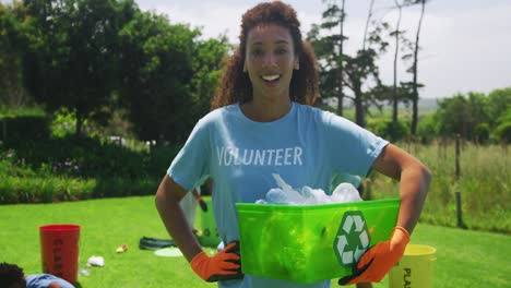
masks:
{"type": "Polygon", "coordinates": [[[433,262],[437,249],[429,245],[408,244],[403,257],[389,274],[390,288],[433,287],[433,262]]]}

